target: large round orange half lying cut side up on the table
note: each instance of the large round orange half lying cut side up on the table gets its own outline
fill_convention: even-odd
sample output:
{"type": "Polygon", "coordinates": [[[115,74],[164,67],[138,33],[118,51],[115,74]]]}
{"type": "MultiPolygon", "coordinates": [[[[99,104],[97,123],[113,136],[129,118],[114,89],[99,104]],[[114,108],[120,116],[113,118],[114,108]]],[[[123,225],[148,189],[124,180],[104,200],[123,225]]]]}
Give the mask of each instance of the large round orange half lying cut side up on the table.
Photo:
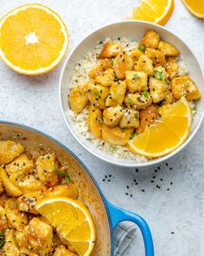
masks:
{"type": "Polygon", "coordinates": [[[67,46],[66,25],[41,4],[17,7],[0,21],[0,57],[18,73],[47,73],[61,62],[67,46]]]}

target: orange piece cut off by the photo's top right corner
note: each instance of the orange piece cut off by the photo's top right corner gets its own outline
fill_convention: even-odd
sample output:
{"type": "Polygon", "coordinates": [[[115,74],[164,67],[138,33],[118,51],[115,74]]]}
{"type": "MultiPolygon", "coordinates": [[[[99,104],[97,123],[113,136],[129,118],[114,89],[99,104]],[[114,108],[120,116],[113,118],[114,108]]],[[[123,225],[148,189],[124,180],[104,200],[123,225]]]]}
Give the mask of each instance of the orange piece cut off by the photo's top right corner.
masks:
{"type": "Polygon", "coordinates": [[[194,16],[204,18],[204,0],[182,0],[182,3],[194,16]]]}

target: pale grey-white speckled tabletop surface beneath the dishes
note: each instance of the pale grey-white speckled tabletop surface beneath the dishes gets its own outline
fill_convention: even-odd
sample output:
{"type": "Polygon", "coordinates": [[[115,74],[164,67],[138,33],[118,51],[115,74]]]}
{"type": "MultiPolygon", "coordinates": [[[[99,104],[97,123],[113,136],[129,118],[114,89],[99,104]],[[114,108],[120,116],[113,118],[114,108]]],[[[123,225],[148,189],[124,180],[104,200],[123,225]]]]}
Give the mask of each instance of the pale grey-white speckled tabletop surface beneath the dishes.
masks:
{"type": "MultiPolygon", "coordinates": [[[[0,16],[17,5],[32,2],[1,0],[0,16]]],[[[67,23],[69,51],[92,30],[128,16],[137,3],[135,0],[37,2],[53,8],[67,23]]],[[[193,49],[204,69],[204,21],[191,16],[181,1],[175,0],[174,15],[166,26],[193,49]]],[[[113,167],[87,153],[69,134],[58,101],[61,67],[62,64],[48,75],[28,77],[16,74],[0,62],[0,119],[39,128],[71,148],[90,168],[112,203],[141,214],[149,222],[156,256],[204,255],[203,123],[188,147],[168,163],[161,164],[157,173],[154,171],[157,167],[139,169],[138,173],[135,169],[113,167]],[[109,174],[111,182],[103,181],[109,174]],[[155,182],[151,183],[153,176],[155,182]],[[156,188],[157,184],[160,189],[156,188]],[[132,198],[125,193],[132,194],[132,198]]],[[[139,233],[124,255],[144,255],[139,233]]]]}

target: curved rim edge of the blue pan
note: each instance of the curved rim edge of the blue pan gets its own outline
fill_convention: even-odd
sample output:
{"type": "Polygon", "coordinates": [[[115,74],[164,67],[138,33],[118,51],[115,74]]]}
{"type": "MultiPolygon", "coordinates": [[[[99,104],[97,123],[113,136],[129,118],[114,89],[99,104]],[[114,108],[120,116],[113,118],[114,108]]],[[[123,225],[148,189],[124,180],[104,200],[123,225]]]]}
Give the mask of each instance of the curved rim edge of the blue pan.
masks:
{"type": "Polygon", "coordinates": [[[103,202],[103,205],[105,207],[105,213],[107,215],[107,220],[108,220],[108,224],[109,224],[109,233],[110,233],[110,239],[111,239],[111,244],[110,244],[110,247],[111,247],[111,252],[110,253],[111,254],[110,255],[112,255],[112,252],[113,252],[113,249],[114,249],[114,247],[113,247],[113,230],[112,230],[111,214],[110,214],[108,206],[107,206],[108,200],[106,199],[106,197],[103,194],[101,188],[99,187],[99,183],[95,180],[92,172],[89,170],[88,167],[86,167],[84,162],[81,161],[80,158],[76,154],[74,154],[71,149],[67,148],[67,146],[64,145],[61,141],[55,139],[51,135],[48,135],[48,134],[42,132],[40,129],[33,128],[33,127],[27,126],[25,124],[18,123],[16,121],[3,121],[3,120],[0,120],[0,125],[1,124],[3,124],[3,125],[10,125],[10,126],[14,126],[14,127],[16,126],[18,128],[24,128],[26,130],[31,131],[32,133],[34,132],[35,134],[38,134],[38,135],[41,135],[41,136],[47,138],[49,141],[52,141],[52,142],[56,143],[61,148],[63,148],[65,151],[67,151],[68,154],[71,154],[71,156],[75,159],[75,161],[77,161],[80,164],[80,166],[83,167],[83,169],[85,170],[86,174],[89,175],[89,177],[92,180],[93,184],[96,186],[96,189],[99,192],[100,198],[101,198],[101,200],[103,202]]]}

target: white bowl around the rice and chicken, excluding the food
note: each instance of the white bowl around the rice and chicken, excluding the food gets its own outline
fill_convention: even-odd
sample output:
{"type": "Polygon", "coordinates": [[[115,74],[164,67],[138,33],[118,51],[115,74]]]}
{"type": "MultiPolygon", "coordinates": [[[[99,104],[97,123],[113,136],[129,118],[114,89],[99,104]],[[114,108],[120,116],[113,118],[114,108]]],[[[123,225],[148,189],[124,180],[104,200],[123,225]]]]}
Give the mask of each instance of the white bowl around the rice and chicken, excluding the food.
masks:
{"type": "Polygon", "coordinates": [[[61,103],[61,112],[64,116],[64,119],[67,123],[67,127],[72,133],[73,137],[80,143],[81,146],[86,148],[87,151],[99,157],[100,159],[107,161],[113,165],[120,167],[145,167],[153,164],[157,164],[161,161],[166,161],[169,157],[177,154],[182,148],[185,148],[186,145],[191,141],[196,134],[198,128],[201,125],[201,121],[204,113],[204,82],[203,75],[201,72],[201,67],[199,62],[196,60],[193,52],[188,48],[188,46],[182,42],[180,38],[175,36],[171,31],[163,28],[162,26],[156,25],[154,23],[147,23],[141,21],[124,21],[119,23],[112,23],[106,25],[105,27],[92,32],[91,35],[86,36],[86,38],[69,54],[67,61],[64,64],[64,67],[61,71],[60,79],[60,103],[61,103]],[[201,91],[202,99],[197,102],[197,114],[194,117],[194,122],[188,136],[187,141],[185,141],[181,147],[177,148],[174,152],[167,154],[161,158],[150,160],[148,162],[136,162],[127,159],[118,159],[112,154],[108,154],[105,151],[97,148],[92,144],[92,142],[87,141],[83,135],[76,129],[74,121],[71,117],[66,115],[66,112],[70,109],[67,95],[69,94],[69,82],[73,74],[75,65],[81,58],[86,55],[88,50],[94,49],[98,41],[102,41],[105,37],[111,37],[112,39],[117,39],[118,37],[128,37],[136,42],[139,42],[146,30],[155,30],[164,41],[173,43],[180,50],[181,56],[186,62],[186,65],[189,70],[189,75],[194,80],[195,84],[201,91]]]}

